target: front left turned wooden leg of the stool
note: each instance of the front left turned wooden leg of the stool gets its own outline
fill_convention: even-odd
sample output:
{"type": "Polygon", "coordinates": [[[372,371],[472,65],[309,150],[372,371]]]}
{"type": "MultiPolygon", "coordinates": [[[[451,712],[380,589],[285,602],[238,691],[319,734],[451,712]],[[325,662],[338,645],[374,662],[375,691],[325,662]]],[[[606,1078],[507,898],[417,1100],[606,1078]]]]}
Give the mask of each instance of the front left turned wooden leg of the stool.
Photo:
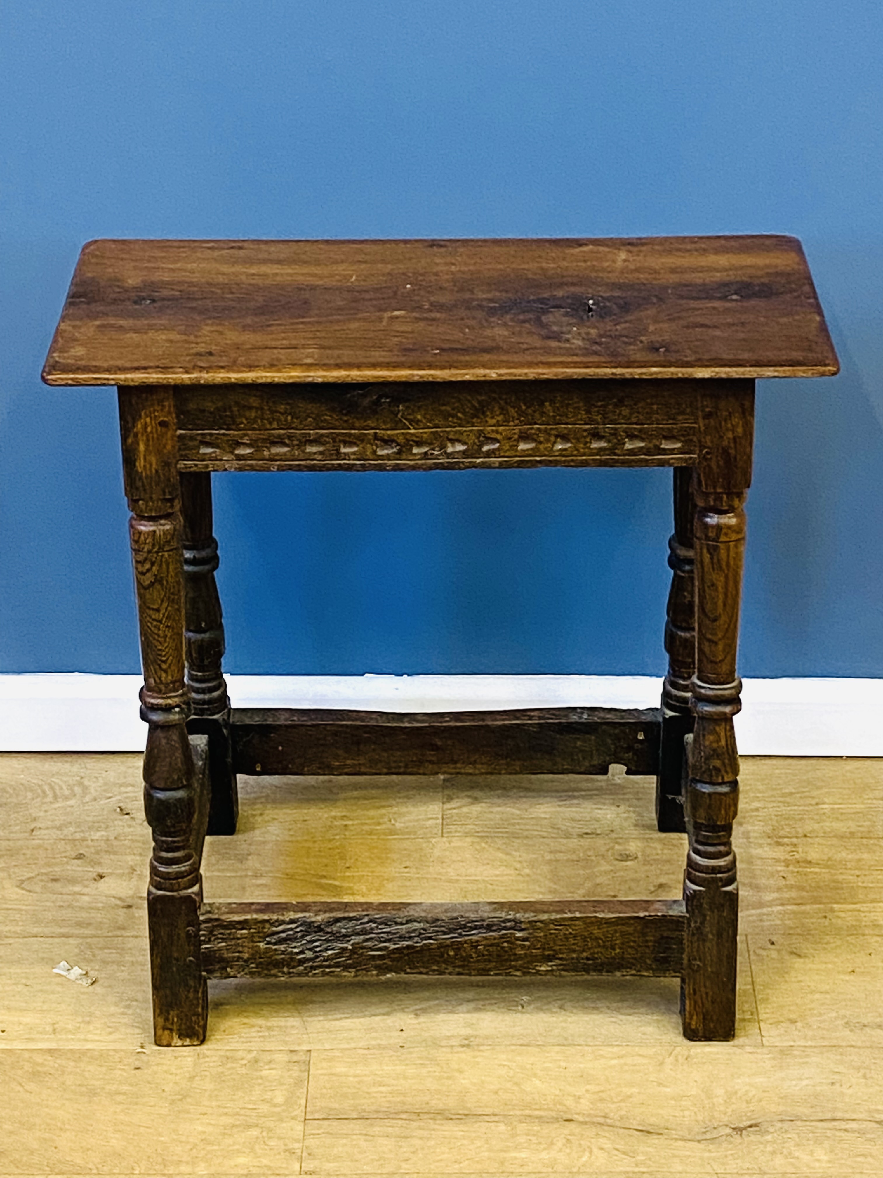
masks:
{"type": "Polygon", "coordinates": [[[126,496],[138,595],[148,727],[145,812],[153,832],[147,921],[154,1039],[205,1038],[207,991],[200,960],[200,860],[205,799],[187,734],[184,585],[174,399],[161,388],[120,389],[126,496]]]}

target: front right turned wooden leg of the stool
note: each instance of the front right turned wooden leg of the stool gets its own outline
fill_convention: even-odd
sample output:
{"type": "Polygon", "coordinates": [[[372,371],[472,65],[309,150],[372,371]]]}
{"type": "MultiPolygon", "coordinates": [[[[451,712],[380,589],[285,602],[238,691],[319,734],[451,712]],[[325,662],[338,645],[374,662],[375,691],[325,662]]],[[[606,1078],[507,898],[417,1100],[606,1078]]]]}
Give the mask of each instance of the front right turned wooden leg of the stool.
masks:
{"type": "MultiPolygon", "coordinates": [[[[717,383],[717,382],[715,382],[717,383]]],[[[710,382],[710,384],[712,384],[710,382]]],[[[738,807],[733,716],[745,491],[751,474],[753,383],[719,382],[701,397],[704,435],[696,498],[696,674],[685,816],[689,835],[683,1026],[688,1039],[736,1031],[738,885],[732,823],[738,807]]]]}

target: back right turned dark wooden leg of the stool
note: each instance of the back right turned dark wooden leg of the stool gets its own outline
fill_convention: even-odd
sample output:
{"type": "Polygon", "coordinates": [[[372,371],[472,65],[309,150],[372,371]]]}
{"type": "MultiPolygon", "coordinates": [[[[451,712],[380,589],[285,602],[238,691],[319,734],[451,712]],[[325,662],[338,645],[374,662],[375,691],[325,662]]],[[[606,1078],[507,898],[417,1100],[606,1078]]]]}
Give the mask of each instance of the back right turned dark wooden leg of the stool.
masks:
{"type": "Polygon", "coordinates": [[[696,670],[696,600],[693,591],[692,469],[675,466],[675,531],[669,540],[671,589],[665,620],[669,671],[663,683],[656,823],[660,830],[684,826],[684,739],[693,730],[690,708],[696,670]]]}

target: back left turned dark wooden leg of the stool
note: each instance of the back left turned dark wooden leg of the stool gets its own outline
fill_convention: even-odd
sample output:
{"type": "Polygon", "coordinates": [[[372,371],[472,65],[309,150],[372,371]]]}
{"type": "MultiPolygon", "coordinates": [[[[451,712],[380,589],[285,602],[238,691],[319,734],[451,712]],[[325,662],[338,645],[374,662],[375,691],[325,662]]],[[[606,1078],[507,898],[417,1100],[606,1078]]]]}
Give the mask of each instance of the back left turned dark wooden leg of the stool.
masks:
{"type": "Polygon", "coordinates": [[[212,535],[212,476],[181,472],[184,613],[187,687],[193,714],[187,730],[208,737],[208,834],[235,834],[239,801],[230,740],[230,700],[221,674],[224,622],[214,582],[218,543],[212,535]]]}

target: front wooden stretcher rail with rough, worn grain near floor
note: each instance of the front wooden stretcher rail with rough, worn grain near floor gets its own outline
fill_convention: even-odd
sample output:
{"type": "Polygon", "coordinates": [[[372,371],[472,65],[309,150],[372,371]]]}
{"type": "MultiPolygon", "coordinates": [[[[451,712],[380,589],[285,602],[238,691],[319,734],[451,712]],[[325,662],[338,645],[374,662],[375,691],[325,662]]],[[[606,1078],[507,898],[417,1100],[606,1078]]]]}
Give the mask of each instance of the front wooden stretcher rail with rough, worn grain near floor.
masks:
{"type": "Polygon", "coordinates": [[[680,900],[206,904],[210,978],[683,972],[680,900]]]}

